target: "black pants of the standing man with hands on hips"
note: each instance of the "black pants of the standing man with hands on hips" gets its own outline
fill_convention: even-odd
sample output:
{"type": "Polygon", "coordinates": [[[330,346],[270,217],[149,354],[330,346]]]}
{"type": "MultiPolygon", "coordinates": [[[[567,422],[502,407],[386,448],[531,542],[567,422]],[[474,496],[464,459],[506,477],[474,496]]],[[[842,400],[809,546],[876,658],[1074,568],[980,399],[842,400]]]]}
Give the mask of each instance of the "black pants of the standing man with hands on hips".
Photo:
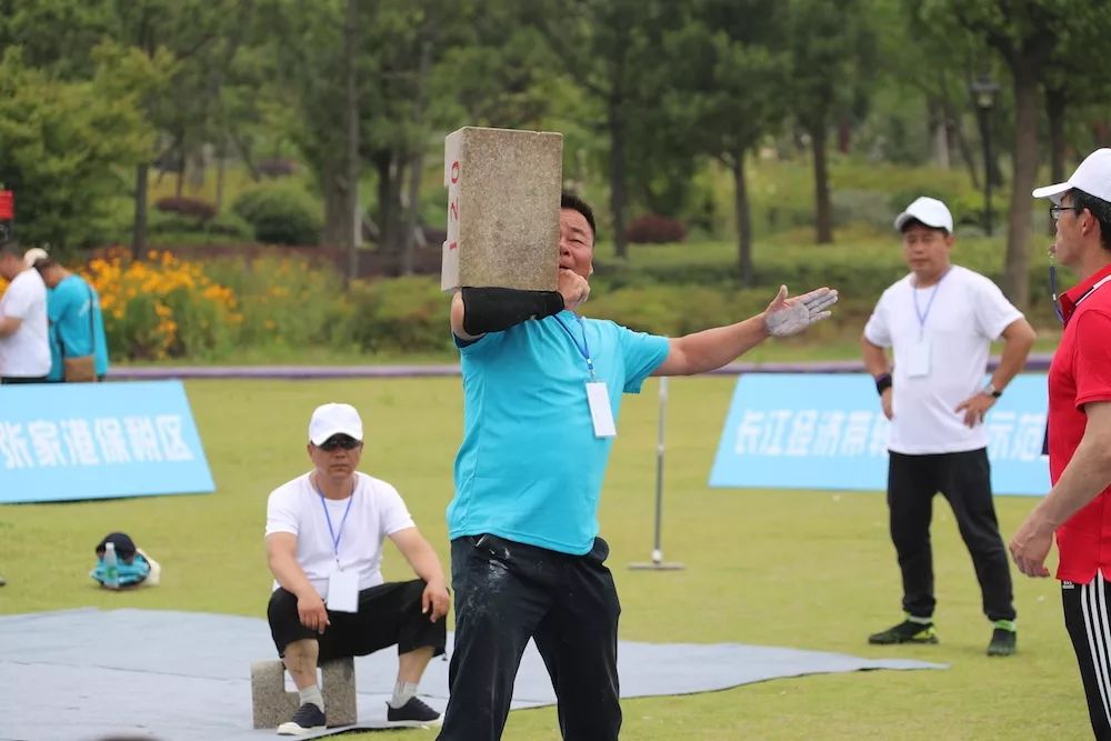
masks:
{"type": "Polygon", "coordinates": [[[888,507],[891,541],[902,571],[903,610],[915,618],[933,617],[930,521],[933,497],[939,491],[953,508],[957,527],[972,557],[984,614],[989,620],[1014,620],[1011,570],[999,534],[991,499],[991,467],[983,448],[929,455],[891,453],[888,507]]]}

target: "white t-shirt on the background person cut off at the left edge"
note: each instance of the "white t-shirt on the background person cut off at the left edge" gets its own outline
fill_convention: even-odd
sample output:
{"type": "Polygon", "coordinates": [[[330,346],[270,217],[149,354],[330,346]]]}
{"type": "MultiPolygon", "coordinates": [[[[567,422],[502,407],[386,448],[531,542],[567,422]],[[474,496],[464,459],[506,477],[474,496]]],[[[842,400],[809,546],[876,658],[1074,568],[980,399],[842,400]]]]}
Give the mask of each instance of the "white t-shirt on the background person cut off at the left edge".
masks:
{"type": "Polygon", "coordinates": [[[37,378],[50,372],[47,286],[38,270],[24,270],[0,297],[0,317],[20,319],[13,334],[0,338],[0,375],[37,378]]]}

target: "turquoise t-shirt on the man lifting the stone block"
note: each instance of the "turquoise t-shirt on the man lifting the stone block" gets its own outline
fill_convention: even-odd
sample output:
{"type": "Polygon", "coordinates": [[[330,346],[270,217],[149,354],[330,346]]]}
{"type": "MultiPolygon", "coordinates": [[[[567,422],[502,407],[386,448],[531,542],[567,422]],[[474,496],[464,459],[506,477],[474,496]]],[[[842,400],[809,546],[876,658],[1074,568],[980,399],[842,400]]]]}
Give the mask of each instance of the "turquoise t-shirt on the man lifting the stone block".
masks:
{"type": "MultiPolygon", "coordinates": [[[[491,533],[587,553],[612,438],[595,438],[583,334],[613,419],[668,357],[668,339],[570,311],[460,347],[463,442],[456,457],[449,537],[491,533]]],[[[460,343],[461,344],[461,343],[460,343]]]]}

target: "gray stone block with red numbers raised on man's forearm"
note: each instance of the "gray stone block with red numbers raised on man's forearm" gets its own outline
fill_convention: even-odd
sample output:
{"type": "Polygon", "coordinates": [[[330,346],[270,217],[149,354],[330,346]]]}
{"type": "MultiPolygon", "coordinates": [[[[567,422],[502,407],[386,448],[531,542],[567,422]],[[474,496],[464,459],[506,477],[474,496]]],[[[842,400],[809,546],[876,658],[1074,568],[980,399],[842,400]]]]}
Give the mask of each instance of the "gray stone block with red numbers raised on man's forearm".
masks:
{"type": "Polygon", "coordinates": [[[563,136],[463,127],[444,140],[440,286],[554,291],[563,136]]]}

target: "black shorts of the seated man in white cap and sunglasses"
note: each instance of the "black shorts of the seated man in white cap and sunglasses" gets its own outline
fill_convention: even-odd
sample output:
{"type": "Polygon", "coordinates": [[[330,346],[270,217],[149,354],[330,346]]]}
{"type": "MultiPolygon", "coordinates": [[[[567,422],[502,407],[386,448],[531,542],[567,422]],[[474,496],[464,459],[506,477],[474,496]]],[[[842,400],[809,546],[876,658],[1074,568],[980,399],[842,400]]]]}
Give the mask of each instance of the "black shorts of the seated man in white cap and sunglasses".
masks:
{"type": "Polygon", "coordinates": [[[359,592],[358,612],[328,611],[330,625],[323,633],[306,628],[297,614],[297,598],[278,588],[270,595],[267,618],[278,655],[293,641],[312,638],[320,644],[323,662],[341,657],[364,657],[397,643],[398,653],[432,647],[432,655],[443,653],[448,619],[431,622],[421,612],[424,581],[387,582],[359,592]]]}

